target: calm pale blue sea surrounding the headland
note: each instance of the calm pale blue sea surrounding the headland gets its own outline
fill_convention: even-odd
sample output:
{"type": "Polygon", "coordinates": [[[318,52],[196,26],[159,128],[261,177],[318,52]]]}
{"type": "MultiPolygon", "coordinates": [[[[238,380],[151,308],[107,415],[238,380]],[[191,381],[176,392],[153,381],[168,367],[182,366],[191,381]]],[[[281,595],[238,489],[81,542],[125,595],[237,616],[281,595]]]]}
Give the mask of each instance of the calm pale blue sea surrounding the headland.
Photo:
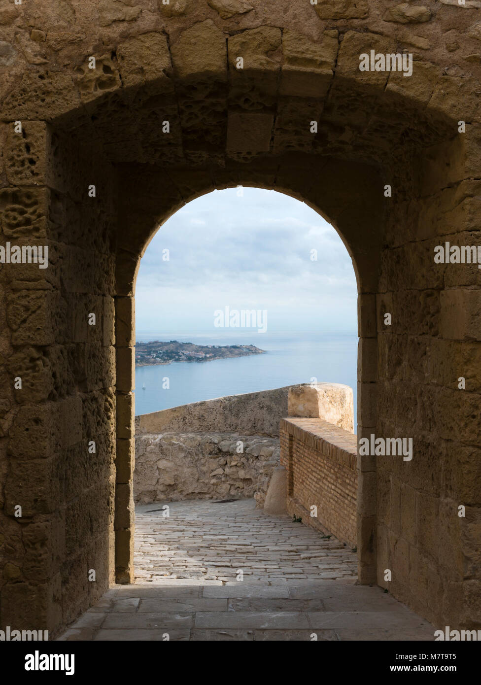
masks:
{"type": "Polygon", "coordinates": [[[256,345],[267,351],[267,354],[212,362],[136,366],[136,415],[214,397],[310,383],[315,377],[317,382],[344,383],[353,389],[356,423],[356,333],[259,334],[238,329],[205,334],[137,331],[136,338],[139,342],[179,340],[197,345],[256,345]],[[169,378],[169,389],[162,388],[164,377],[169,378]]]}

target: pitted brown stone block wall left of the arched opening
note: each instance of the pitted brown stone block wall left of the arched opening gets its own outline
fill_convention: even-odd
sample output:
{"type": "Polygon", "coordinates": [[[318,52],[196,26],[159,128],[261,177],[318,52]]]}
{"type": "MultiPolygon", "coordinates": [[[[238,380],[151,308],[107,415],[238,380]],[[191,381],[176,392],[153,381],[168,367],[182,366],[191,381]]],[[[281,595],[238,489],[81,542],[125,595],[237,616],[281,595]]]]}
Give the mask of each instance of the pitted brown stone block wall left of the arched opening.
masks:
{"type": "Polygon", "coordinates": [[[47,269],[0,269],[2,627],[51,630],[113,580],[114,183],[95,141],[2,135],[2,244],[49,248],[47,269]]]}

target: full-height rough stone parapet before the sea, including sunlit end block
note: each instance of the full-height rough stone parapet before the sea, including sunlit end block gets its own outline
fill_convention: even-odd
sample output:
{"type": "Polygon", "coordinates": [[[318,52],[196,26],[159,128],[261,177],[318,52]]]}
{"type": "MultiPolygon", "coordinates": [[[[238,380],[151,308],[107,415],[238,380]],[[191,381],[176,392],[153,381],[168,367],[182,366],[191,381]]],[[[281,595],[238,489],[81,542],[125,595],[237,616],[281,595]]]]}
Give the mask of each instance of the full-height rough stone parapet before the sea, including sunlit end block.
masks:
{"type": "Polygon", "coordinates": [[[254,496],[262,506],[286,414],[352,427],[352,390],[300,384],[136,416],[134,500],[254,496]]]}

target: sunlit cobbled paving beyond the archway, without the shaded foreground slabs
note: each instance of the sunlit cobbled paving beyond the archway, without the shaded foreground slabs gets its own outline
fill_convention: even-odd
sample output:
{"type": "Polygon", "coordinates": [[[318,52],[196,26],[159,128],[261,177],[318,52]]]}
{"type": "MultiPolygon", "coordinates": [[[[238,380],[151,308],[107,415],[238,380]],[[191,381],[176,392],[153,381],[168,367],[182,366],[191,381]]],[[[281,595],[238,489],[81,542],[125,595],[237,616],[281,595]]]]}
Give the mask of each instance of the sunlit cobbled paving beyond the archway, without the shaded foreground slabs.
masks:
{"type": "Polygon", "coordinates": [[[289,516],[266,516],[254,499],[184,501],[136,508],[137,582],[163,577],[243,582],[355,578],[356,553],[289,516]]]}

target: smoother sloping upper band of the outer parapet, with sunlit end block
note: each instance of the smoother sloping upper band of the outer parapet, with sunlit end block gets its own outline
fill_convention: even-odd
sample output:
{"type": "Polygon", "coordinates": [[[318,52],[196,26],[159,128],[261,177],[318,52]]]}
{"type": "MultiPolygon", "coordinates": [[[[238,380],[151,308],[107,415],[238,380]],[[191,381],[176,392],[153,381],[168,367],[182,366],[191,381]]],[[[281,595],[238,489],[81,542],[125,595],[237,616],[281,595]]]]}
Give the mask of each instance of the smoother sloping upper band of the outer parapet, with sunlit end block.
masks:
{"type": "Polygon", "coordinates": [[[260,393],[244,393],[193,402],[135,417],[135,432],[240,432],[279,435],[284,416],[322,416],[325,421],[353,430],[352,390],[334,383],[315,387],[299,384],[260,393]],[[309,413],[306,413],[309,412],[309,413]]]}

